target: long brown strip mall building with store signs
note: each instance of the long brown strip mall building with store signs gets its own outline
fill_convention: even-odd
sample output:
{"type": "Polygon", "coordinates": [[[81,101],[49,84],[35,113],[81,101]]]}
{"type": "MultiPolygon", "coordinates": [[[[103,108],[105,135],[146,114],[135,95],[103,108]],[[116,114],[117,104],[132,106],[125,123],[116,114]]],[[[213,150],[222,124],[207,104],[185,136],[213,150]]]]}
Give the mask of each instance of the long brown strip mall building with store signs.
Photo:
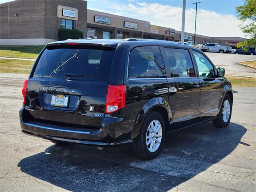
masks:
{"type": "MultiPolygon", "coordinates": [[[[79,29],[84,38],[150,38],[180,41],[180,31],[148,21],[87,9],[84,0],[16,0],[0,4],[0,45],[44,45],[58,40],[58,29],[79,29]]],[[[185,32],[186,41],[194,35],[185,32]]],[[[235,47],[240,37],[196,35],[196,42],[235,47]]]]}

